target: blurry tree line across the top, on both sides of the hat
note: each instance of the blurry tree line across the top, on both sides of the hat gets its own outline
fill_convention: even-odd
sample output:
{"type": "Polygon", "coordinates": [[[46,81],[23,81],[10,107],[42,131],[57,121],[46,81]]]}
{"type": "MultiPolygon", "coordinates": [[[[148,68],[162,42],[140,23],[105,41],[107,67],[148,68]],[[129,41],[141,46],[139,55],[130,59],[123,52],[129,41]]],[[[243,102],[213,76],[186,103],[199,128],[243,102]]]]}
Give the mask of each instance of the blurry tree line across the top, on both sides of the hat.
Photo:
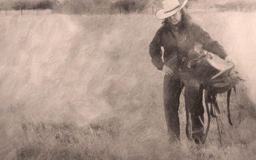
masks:
{"type": "MultiPolygon", "coordinates": [[[[202,3],[203,0],[189,0],[202,3]]],[[[189,4],[189,3],[188,3],[189,4]]],[[[113,14],[147,11],[152,6],[162,6],[162,0],[1,0],[0,10],[38,10],[52,9],[57,13],[68,14],[113,14]]],[[[256,2],[232,1],[215,4],[220,11],[256,10],[256,2]]],[[[191,6],[190,8],[193,8],[191,6]]]]}

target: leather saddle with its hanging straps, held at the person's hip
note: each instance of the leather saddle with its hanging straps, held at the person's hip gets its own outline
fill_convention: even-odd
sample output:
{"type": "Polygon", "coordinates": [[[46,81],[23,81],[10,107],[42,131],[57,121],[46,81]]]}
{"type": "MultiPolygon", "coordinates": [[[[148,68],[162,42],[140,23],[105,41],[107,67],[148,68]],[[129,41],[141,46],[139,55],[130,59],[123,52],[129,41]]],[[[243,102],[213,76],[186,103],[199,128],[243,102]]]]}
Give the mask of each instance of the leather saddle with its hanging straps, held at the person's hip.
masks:
{"type": "Polygon", "coordinates": [[[234,65],[228,64],[217,55],[204,51],[200,45],[199,47],[195,45],[195,48],[189,51],[180,51],[178,55],[167,62],[167,65],[172,69],[175,66],[178,68],[182,81],[194,80],[204,86],[208,124],[202,144],[204,144],[209,131],[210,115],[214,118],[220,115],[221,111],[216,100],[219,93],[227,92],[228,122],[231,126],[233,125],[229,109],[231,90],[234,88],[236,92],[236,84],[239,81],[245,81],[244,76],[235,70],[234,65]]]}

